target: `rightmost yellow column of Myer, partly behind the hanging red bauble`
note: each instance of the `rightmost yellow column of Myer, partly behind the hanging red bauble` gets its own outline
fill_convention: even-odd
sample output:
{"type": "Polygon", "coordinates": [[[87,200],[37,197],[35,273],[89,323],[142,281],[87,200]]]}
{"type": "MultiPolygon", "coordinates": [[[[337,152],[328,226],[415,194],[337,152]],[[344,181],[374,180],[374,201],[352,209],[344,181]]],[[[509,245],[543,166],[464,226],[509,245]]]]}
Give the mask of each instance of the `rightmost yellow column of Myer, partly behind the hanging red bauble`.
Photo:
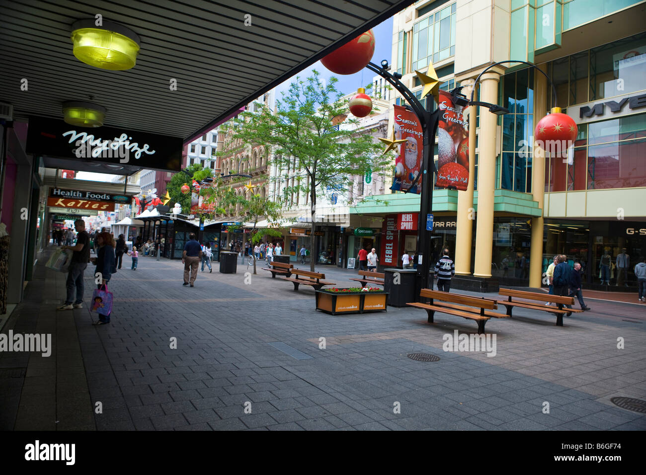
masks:
{"type": "MultiPolygon", "coordinates": [[[[545,71],[545,66],[539,66],[545,71]]],[[[534,127],[547,114],[547,78],[534,71],[534,127]]],[[[532,154],[532,198],[541,216],[532,218],[532,244],[529,256],[529,286],[540,288],[543,277],[543,204],[545,198],[545,151],[534,146],[532,154]]]]}

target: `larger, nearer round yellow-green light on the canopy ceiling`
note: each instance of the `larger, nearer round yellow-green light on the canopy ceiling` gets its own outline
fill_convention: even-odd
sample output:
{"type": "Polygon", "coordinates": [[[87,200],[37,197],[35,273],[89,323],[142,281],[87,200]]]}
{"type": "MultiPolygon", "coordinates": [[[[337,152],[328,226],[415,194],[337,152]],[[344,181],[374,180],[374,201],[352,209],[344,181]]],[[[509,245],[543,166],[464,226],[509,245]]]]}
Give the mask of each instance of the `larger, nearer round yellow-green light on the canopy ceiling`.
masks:
{"type": "Polygon", "coordinates": [[[72,25],[74,56],[101,69],[121,71],[134,67],[139,53],[139,36],[125,26],[103,20],[83,19],[72,25]]]}

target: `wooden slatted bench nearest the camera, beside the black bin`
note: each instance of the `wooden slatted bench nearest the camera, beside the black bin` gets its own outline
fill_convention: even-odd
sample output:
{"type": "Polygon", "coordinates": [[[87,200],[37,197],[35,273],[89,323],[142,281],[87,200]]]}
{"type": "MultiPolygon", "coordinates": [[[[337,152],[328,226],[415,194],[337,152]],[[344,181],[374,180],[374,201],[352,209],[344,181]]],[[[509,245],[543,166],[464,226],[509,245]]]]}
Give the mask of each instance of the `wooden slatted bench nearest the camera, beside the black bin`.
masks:
{"type": "Polygon", "coordinates": [[[478,324],[478,333],[485,333],[485,323],[491,318],[506,318],[504,313],[495,313],[497,302],[491,299],[470,297],[459,293],[441,292],[439,290],[422,289],[419,296],[430,299],[430,303],[411,302],[406,305],[423,308],[428,313],[428,322],[433,323],[436,311],[448,313],[464,319],[474,320],[478,324]]]}

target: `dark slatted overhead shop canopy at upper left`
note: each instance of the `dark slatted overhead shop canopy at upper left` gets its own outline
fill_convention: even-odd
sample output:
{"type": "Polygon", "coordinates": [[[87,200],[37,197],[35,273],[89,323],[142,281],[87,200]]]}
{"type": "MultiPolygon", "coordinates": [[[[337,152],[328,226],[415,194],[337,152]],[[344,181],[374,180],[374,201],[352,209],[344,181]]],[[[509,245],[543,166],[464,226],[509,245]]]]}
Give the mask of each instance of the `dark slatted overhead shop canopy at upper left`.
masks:
{"type": "MultiPolygon", "coordinates": [[[[105,126],[177,138],[185,144],[412,3],[3,2],[0,101],[14,106],[15,120],[60,119],[63,101],[92,101],[107,109],[105,126]],[[72,24],[80,19],[94,21],[97,14],[140,37],[132,69],[98,69],[72,54],[72,24]],[[24,79],[27,90],[21,90],[24,79]],[[171,90],[174,82],[176,90],[171,90]]],[[[181,158],[181,149],[173,152],[181,158]]],[[[54,158],[46,163],[65,164],[54,158]]],[[[118,162],[111,163],[112,169],[91,171],[129,174],[128,167],[137,165],[131,160],[118,171],[118,162]]],[[[78,164],[68,168],[79,169],[78,164]]]]}

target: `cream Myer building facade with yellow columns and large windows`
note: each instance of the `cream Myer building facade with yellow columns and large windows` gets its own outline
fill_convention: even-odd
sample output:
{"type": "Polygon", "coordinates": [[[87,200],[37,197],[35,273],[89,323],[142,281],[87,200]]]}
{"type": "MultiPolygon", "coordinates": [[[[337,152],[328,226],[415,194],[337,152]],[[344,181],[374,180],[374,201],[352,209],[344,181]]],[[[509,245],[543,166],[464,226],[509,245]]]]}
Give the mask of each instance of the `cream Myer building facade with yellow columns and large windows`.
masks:
{"type": "MultiPolygon", "coordinates": [[[[450,248],[466,287],[539,287],[556,253],[581,262],[589,288],[636,284],[632,268],[646,254],[644,6],[437,0],[395,15],[392,69],[418,98],[415,70],[426,72],[429,62],[443,89],[463,86],[466,96],[499,61],[528,61],[556,89],[533,68],[503,63],[483,74],[475,98],[510,113],[479,108],[469,118],[463,111],[475,128],[470,184],[467,191],[433,191],[435,222],[442,225],[432,242],[435,252],[450,248]],[[537,122],[554,105],[578,125],[567,156],[534,144],[537,122]]],[[[392,92],[391,101],[402,98],[392,92]]],[[[387,212],[371,204],[357,211],[382,217],[419,211],[419,196],[390,200],[387,212]]]]}

